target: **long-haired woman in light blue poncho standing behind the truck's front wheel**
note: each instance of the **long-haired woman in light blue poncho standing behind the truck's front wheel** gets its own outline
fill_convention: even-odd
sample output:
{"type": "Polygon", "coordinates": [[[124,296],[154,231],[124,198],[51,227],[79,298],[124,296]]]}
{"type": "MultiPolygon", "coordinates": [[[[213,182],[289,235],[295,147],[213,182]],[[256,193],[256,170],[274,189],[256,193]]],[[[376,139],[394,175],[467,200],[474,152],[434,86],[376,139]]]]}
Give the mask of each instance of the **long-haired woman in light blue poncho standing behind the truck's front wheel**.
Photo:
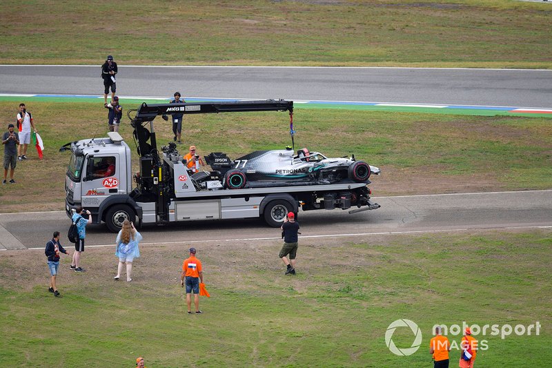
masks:
{"type": "Polygon", "coordinates": [[[117,267],[117,275],[115,280],[119,280],[126,264],[126,282],[132,281],[132,261],[139,258],[140,251],[138,243],[142,240],[142,235],[135,229],[134,224],[128,220],[124,220],[123,228],[117,235],[117,251],[115,255],[119,257],[119,266],[117,267]]]}

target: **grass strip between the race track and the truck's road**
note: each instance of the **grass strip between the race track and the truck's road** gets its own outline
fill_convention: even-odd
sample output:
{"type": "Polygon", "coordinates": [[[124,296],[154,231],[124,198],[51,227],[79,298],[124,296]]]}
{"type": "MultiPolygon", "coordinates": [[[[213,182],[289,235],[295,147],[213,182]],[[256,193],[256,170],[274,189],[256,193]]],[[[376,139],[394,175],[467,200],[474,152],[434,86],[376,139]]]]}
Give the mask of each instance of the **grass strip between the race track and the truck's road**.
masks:
{"type": "MultiPolygon", "coordinates": [[[[121,104],[125,111],[138,106],[136,101],[121,104]]],[[[17,105],[0,101],[0,115],[14,117],[17,105]]],[[[33,101],[27,107],[44,140],[45,158],[39,161],[34,147],[29,148],[30,159],[18,163],[17,184],[0,187],[0,211],[23,211],[28,206],[61,210],[70,154],[58,148],[106,136],[107,110],[90,102],[33,101]]],[[[296,148],[307,146],[328,157],[355,154],[380,166],[383,175],[373,178],[371,185],[375,196],[552,188],[552,125],[546,117],[297,108],[294,122],[296,148]]],[[[157,119],[155,130],[160,146],[172,142],[170,124],[157,119]]],[[[126,117],[121,134],[134,147],[126,117]]],[[[202,155],[226,152],[231,158],[283,148],[290,144],[288,115],[190,115],[183,141],[181,153],[195,144],[202,155]]]]}

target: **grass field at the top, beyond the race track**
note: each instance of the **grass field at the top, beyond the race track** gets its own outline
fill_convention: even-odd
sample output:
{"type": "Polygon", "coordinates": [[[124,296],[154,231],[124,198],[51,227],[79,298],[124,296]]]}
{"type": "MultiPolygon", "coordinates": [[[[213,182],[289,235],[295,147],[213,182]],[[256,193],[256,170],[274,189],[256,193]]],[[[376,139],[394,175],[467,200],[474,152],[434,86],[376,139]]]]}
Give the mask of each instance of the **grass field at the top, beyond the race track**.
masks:
{"type": "Polygon", "coordinates": [[[5,0],[0,63],[551,68],[551,14],[513,0],[5,0]]]}

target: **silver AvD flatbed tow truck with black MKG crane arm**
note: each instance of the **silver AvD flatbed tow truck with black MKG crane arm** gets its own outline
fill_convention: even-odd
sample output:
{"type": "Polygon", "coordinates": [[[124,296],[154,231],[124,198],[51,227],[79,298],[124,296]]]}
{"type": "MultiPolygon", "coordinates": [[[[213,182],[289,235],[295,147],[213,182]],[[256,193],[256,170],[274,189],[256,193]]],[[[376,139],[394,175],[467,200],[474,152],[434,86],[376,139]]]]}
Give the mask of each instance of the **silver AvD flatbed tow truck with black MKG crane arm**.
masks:
{"type": "Polygon", "coordinates": [[[150,105],[144,102],[128,113],[139,155],[139,172],[135,175],[132,175],[130,146],[119,133],[66,144],[60,151],[71,151],[65,181],[67,215],[71,217],[77,206],[83,206],[92,213],[92,223],[104,222],[110,231],[117,232],[124,220],[138,220],[140,226],[264,217],[269,226],[278,227],[286,214],[297,213],[299,206],[304,211],[356,206],[350,213],[380,207],[370,199],[369,180],[235,186],[231,183],[242,180],[244,174],[236,170],[224,153],[204,156],[212,171],[193,173],[176,144],[170,142],[161,152],[157,149],[155,117],[172,113],[256,111],[288,111],[293,142],[293,101],[261,100],[150,105]],[[134,112],[135,117],[131,117],[130,113],[134,112]],[[136,184],[134,188],[132,182],[136,184]],[[226,186],[225,182],[230,185],[226,186]]]}

